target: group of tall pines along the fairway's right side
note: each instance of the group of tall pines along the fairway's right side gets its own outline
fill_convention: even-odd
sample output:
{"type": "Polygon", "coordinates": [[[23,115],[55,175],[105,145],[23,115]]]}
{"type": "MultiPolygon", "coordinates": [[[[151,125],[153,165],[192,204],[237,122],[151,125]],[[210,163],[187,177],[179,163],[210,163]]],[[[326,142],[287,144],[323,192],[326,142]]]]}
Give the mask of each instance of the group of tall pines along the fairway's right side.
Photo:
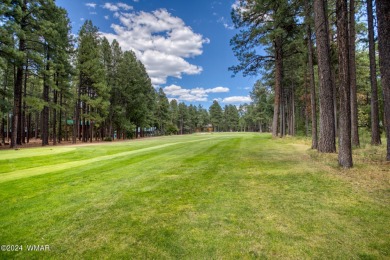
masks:
{"type": "Polygon", "coordinates": [[[390,1],[238,0],[232,19],[230,70],[262,76],[274,137],[304,132],[349,168],[359,129],[372,145],[385,133],[390,160],[390,1]]]}

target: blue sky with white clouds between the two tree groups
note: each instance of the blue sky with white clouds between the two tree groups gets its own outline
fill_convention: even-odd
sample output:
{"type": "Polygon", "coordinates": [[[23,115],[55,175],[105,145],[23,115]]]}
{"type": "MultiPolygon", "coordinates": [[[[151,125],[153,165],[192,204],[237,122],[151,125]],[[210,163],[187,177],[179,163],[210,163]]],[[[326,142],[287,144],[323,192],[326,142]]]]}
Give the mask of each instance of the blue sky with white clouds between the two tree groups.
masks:
{"type": "Polygon", "coordinates": [[[237,64],[229,45],[237,32],[230,18],[236,0],[57,0],[77,34],[86,19],[123,50],[133,50],[169,99],[209,107],[249,103],[256,78],[228,67],[237,64]]]}

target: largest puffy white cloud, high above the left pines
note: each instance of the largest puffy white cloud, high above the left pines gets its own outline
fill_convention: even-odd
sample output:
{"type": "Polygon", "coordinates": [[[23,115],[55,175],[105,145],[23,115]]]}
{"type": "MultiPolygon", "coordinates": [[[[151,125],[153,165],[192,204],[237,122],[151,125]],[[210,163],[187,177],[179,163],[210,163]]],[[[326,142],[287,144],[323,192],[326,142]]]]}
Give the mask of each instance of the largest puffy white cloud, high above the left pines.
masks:
{"type": "Polygon", "coordinates": [[[116,39],[124,50],[132,50],[145,65],[154,85],[165,84],[167,77],[195,75],[202,67],[186,59],[201,55],[207,38],[195,33],[179,17],[166,9],[153,12],[123,12],[120,4],[106,3],[104,8],[114,12],[119,20],[111,28],[115,33],[102,33],[116,39]]]}

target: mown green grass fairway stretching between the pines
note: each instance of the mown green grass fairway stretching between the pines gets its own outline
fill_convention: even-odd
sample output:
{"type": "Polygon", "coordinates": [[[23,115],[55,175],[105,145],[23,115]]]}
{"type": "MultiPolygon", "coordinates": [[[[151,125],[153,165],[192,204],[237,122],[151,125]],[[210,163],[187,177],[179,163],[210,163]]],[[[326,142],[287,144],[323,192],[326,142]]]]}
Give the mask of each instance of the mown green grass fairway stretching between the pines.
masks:
{"type": "Polygon", "coordinates": [[[0,151],[0,244],[23,245],[0,258],[390,258],[388,165],[359,149],[340,170],[307,143],[232,133],[0,151]]]}

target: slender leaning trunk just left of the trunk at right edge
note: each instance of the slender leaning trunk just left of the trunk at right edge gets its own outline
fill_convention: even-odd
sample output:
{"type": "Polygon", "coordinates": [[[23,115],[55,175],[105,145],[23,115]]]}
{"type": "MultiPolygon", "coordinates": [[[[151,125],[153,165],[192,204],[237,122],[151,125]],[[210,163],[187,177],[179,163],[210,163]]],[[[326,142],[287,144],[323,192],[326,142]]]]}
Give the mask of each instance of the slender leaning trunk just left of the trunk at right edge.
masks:
{"type": "Polygon", "coordinates": [[[370,82],[371,82],[371,144],[380,145],[381,135],[379,128],[379,99],[378,84],[376,80],[375,41],[374,41],[374,18],[372,0],[367,0],[368,18],[368,50],[370,57],[370,82]]]}

